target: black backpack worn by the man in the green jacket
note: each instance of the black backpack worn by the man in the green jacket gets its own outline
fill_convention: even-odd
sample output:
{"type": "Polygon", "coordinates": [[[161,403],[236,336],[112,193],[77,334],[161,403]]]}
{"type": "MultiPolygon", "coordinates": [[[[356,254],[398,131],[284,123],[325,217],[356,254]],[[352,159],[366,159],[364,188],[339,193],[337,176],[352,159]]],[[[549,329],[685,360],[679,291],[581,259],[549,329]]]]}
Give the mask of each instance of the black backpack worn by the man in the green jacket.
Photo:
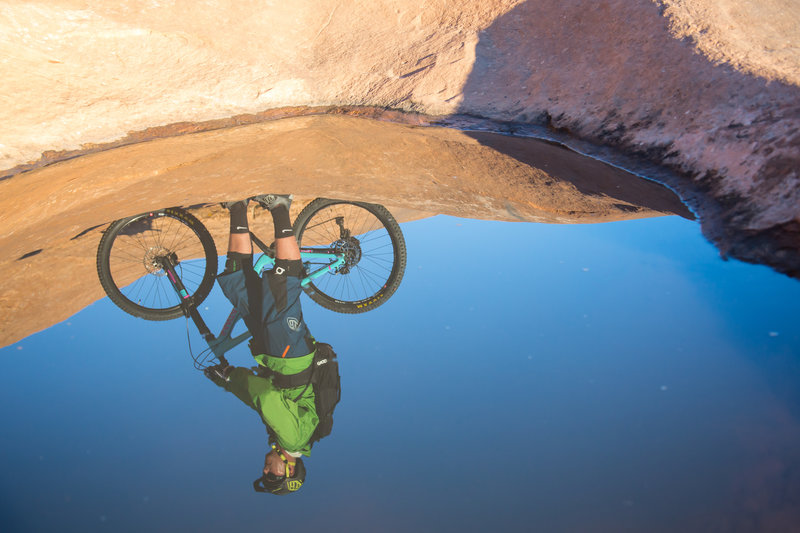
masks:
{"type": "Polygon", "coordinates": [[[294,398],[297,402],[305,394],[309,386],[314,390],[314,407],[317,411],[319,423],[309,439],[309,444],[327,437],[333,429],[333,411],[342,398],[342,385],[339,377],[339,362],[336,352],[330,344],[314,342],[314,360],[311,365],[298,374],[290,376],[271,372],[266,367],[260,367],[260,375],[272,376],[272,383],[281,389],[292,389],[305,385],[305,388],[294,398]]]}

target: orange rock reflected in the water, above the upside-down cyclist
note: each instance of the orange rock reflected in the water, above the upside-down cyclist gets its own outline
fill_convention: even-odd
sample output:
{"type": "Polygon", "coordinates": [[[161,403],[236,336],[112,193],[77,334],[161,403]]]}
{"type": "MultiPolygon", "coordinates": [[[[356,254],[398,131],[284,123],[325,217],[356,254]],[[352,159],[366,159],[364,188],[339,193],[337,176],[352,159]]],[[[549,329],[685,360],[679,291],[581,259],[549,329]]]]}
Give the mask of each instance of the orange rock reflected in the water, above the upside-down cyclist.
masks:
{"type": "MultiPolygon", "coordinates": [[[[436,213],[546,223],[691,216],[658,184],[490,133],[322,115],[157,139],[0,181],[0,198],[40,199],[0,214],[0,316],[13,317],[0,321],[0,346],[103,296],[95,254],[108,222],[268,190],[295,194],[292,216],[317,196],[383,204],[401,221],[436,213]]],[[[198,216],[224,253],[227,214],[211,206],[198,216]]],[[[270,221],[254,212],[264,238],[270,221]]]]}

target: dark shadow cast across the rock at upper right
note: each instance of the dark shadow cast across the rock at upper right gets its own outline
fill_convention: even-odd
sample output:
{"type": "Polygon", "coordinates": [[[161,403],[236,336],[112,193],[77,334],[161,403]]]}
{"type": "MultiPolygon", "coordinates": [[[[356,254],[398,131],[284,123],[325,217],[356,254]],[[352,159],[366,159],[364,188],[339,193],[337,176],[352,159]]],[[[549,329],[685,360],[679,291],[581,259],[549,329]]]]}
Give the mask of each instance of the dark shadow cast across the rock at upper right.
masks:
{"type": "Polygon", "coordinates": [[[800,219],[800,89],[712,63],[645,1],[528,1],[480,34],[475,55],[464,113],[668,169],[647,175],[699,213],[723,255],[800,277],[787,232],[800,219]]]}

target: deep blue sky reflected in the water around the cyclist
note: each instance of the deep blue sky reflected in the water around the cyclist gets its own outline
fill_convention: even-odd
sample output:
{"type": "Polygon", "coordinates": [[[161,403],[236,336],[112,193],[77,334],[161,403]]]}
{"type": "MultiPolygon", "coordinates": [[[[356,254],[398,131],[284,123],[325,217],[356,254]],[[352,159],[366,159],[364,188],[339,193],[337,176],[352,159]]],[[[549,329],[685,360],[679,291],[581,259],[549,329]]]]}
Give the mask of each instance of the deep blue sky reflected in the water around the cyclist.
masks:
{"type": "MultiPolygon", "coordinates": [[[[408,268],[383,307],[304,300],[343,392],[302,493],[252,492],[263,426],[192,368],[183,319],[104,299],[0,350],[2,523],[691,529],[769,492],[740,480],[770,457],[800,461],[796,281],[720,260],[678,217],[402,227],[408,268]]],[[[218,289],[203,307],[220,327],[218,289]]]]}

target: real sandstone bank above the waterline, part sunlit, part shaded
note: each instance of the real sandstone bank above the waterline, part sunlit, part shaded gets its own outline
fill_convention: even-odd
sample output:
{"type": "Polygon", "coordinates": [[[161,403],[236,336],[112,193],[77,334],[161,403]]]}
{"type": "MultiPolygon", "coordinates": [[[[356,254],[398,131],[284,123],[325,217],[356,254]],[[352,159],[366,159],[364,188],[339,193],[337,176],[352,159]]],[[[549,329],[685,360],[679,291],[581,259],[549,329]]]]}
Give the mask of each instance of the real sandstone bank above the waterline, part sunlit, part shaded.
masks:
{"type": "MultiPolygon", "coordinates": [[[[188,0],[8,0],[0,175],[33,182],[25,171],[37,161],[286,106],[471,115],[663,163],[680,174],[662,179],[723,253],[798,275],[798,11],[791,0],[211,0],[202,9],[188,0]]],[[[87,161],[135,170],[148,159],[154,179],[171,170],[153,165],[169,158],[144,150],[87,161]]],[[[172,190],[184,190],[172,194],[192,196],[190,177],[223,171],[208,162],[192,176],[171,173],[172,190]]],[[[59,168],[45,169],[53,183],[59,168]]],[[[85,184],[71,179],[66,190],[5,193],[0,211],[26,205],[34,189],[31,198],[55,212],[103,196],[157,201],[124,180],[78,196],[85,184]]],[[[502,192],[501,182],[485,185],[502,192]]],[[[2,234],[17,231],[13,220],[3,215],[2,234]]]]}

